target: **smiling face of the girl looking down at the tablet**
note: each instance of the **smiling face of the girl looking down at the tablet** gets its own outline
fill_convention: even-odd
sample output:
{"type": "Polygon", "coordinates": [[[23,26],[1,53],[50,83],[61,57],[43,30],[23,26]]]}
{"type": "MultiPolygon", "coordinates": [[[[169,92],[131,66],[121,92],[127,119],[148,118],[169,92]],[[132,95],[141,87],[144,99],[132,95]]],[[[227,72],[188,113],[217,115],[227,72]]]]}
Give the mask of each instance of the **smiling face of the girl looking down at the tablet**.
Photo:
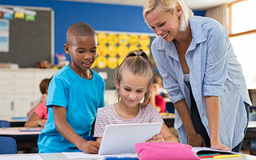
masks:
{"type": "Polygon", "coordinates": [[[149,80],[143,75],[134,75],[126,70],[123,70],[122,75],[120,84],[117,79],[115,81],[121,98],[120,105],[136,107],[148,90],[149,80]]]}

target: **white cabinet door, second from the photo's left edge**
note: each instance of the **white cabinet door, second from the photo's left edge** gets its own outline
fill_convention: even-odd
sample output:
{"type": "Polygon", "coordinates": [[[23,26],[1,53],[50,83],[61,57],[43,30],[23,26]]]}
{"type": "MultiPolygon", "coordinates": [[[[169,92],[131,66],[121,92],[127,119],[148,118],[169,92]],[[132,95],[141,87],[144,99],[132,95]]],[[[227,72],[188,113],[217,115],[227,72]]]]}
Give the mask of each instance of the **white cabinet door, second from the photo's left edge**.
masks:
{"type": "Polygon", "coordinates": [[[26,117],[33,105],[32,94],[16,94],[14,97],[14,117],[26,117]]]}

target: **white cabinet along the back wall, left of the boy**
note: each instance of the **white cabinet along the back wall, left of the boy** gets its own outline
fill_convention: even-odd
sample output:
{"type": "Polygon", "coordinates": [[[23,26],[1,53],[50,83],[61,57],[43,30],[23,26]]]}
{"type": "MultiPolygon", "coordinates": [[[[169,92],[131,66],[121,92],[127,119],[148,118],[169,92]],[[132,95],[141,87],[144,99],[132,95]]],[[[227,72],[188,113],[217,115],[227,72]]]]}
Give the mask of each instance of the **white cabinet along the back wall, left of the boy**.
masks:
{"type": "Polygon", "coordinates": [[[41,97],[39,84],[58,70],[0,70],[0,118],[25,117],[41,97]]]}

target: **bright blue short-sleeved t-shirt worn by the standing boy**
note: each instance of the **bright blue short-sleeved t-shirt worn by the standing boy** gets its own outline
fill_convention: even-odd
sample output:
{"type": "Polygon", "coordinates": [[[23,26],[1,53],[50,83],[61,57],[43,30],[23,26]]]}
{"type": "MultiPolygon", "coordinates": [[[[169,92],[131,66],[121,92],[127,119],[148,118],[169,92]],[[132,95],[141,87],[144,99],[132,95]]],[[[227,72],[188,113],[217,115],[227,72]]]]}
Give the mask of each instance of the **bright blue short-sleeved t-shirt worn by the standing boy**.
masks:
{"type": "Polygon", "coordinates": [[[46,102],[48,120],[38,138],[39,153],[81,151],[58,133],[52,106],[65,107],[66,121],[79,136],[88,137],[98,108],[105,106],[105,82],[94,70],[91,71],[93,78],[90,80],[78,76],[70,66],[64,66],[54,74],[46,102]]]}

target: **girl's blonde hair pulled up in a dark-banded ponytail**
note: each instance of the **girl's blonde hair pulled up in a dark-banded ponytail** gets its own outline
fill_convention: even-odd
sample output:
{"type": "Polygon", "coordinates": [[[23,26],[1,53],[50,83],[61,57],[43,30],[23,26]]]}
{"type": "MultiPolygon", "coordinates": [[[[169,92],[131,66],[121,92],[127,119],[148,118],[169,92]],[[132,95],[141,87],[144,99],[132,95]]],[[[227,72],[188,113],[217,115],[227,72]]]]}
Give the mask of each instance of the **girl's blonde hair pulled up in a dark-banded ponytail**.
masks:
{"type": "MultiPolygon", "coordinates": [[[[122,81],[123,70],[129,70],[134,75],[142,75],[148,78],[148,86],[153,81],[152,64],[143,50],[132,50],[126,55],[126,58],[122,61],[118,69],[116,70],[116,78],[118,85],[122,81]]],[[[119,89],[116,90],[115,97],[120,101],[119,89]]],[[[148,99],[150,98],[150,90],[144,94],[144,100],[141,107],[146,106],[148,99]]]]}

